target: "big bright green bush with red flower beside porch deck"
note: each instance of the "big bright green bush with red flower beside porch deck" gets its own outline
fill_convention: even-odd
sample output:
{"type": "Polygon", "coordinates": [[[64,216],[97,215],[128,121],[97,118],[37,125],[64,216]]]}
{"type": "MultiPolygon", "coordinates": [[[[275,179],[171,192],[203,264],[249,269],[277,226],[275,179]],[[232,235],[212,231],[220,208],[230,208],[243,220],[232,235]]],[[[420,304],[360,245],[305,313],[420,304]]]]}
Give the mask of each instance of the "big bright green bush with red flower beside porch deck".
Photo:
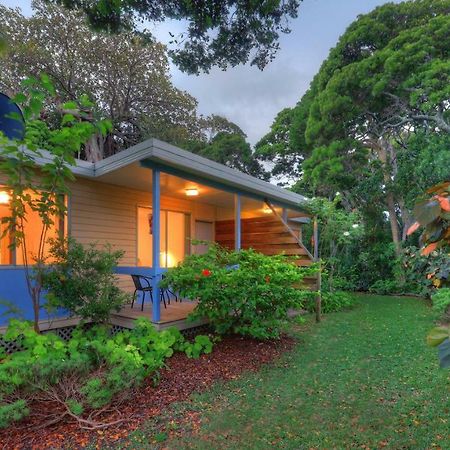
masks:
{"type": "Polygon", "coordinates": [[[277,338],[290,308],[312,293],[299,285],[311,269],[298,268],[283,256],[254,250],[229,251],[210,245],[169,269],[162,285],[198,300],[193,317],[207,317],[219,334],[277,338]]]}

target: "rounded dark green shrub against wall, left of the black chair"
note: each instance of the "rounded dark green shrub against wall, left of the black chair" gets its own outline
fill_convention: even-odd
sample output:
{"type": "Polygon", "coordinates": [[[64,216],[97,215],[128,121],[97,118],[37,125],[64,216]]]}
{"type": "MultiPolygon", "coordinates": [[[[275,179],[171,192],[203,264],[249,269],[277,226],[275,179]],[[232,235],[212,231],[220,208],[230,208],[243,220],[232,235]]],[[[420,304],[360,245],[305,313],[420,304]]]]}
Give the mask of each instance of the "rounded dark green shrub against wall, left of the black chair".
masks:
{"type": "Polygon", "coordinates": [[[127,294],[116,285],[115,268],[123,251],[111,246],[83,246],[74,239],[51,241],[49,264],[42,277],[46,308],[63,308],[94,323],[107,323],[127,294]]]}

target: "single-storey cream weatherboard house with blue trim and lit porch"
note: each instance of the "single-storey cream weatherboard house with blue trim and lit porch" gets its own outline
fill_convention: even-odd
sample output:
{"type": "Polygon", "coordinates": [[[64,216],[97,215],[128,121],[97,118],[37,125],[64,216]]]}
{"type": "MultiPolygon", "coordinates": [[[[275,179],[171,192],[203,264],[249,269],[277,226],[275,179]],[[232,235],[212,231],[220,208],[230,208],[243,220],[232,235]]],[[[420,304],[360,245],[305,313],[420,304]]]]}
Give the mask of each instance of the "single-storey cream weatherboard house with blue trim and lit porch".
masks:
{"type": "MultiPolygon", "coordinates": [[[[44,153],[37,165],[49,157],[44,153]]],[[[71,170],[75,181],[70,183],[68,214],[60,226],[83,244],[109,243],[123,250],[118,283],[130,292],[130,274],[147,275],[152,277],[154,298],[159,298],[158,281],[164,271],[186,255],[205,250],[204,245],[193,245],[193,239],[266,254],[285,252],[299,256],[299,265],[312,262],[301,242],[301,222],[307,218],[304,197],[165,142],[149,139],[97,163],[77,160],[71,170]]],[[[4,183],[0,172],[0,218],[8,214],[4,183]]],[[[36,220],[30,216],[31,234],[36,220]]],[[[0,241],[0,299],[31,319],[20,254],[11,252],[8,244],[6,238],[0,241]]],[[[184,315],[189,312],[186,305],[184,315]]],[[[170,308],[175,311],[175,305],[170,308]]],[[[162,317],[170,316],[170,308],[162,310],[155,301],[143,314],[156,324],[179,320],[162,317]]],[[[0,305],[0,327],[6,324],[6,309],[0,305]]],[[[130,310],[128,317],[117,316],[118,324],[126,326],[138,309],[130,310]]],[[[47,317],[44,311],[41,317],[41,328],[75,320],[47,317]]]]}

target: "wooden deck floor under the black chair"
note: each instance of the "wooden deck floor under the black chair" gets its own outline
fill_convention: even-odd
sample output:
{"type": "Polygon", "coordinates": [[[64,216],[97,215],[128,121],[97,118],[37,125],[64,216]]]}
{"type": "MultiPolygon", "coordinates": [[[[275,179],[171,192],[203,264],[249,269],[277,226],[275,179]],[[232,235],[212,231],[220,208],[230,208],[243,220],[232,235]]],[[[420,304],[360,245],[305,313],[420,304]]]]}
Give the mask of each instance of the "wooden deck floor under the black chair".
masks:
{"type": "MultiPolygon", "coordinates": [[[[161,305],[161,320],[153,322],[156,329],[163,330],[168,327],[176,327],[179,330],[186,330],[188,328],[198,327],[207,323],[206,320],[188,321],[187,316],[195,309],[197,302],[183,300],[182,302],[171,301],[167,308],[161,305]]],[[[152,319],[152,305],[144,305],[144,311],[141,311],[141,306],[135,304],[134,308],[131,305],[124,306],[120,312],[111,315],[111,322],[114,325],[120,325],[126,328],[134,328],[134,321],[139,317],[147,317],[152,319]]]]}

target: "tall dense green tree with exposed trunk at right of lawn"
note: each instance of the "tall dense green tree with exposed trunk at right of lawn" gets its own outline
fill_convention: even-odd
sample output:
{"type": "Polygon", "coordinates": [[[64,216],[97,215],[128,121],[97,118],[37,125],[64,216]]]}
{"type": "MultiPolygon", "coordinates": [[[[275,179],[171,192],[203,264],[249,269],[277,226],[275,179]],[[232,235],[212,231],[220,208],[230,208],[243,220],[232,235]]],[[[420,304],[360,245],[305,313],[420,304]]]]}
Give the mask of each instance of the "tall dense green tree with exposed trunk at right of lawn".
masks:
{"type": "Polygon", "coordinates": [[[396,189],[399,153],[413,133],[448,131],[449,12],[449,0],[421,0],[360,16],[292,113],[289,153],[307,155],[303,181],[341,192],[349,209],[367,193],[381,200],[398,254],[412,222],[396,189]]]}

